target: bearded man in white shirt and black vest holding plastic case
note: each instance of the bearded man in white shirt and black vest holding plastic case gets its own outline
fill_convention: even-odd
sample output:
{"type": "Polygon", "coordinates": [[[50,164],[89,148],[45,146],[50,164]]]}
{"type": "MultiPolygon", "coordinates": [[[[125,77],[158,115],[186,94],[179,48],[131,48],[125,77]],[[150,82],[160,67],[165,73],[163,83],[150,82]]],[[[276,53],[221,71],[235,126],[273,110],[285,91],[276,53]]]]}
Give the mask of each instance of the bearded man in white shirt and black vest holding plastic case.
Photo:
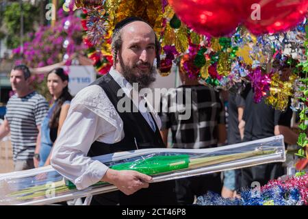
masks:
{"type": "Polygon", "coordinates": [[[151,183],[148,175],[112,170],[91,158],[165,147],[159,134],[159,116],[150,110],[138,110],[140,106],[150,108],[142,96],[132,98],[133,92],[138,92],[136,84],[140,90],[155,81],[159,42],[153,28],[141,18],[120,21],[112,35],[112,53],[114,66],[110,72],[73,99],[55,143],[51,165],[79,190],[99,181],[120,190],[93,196],[92,205],[175,205],[175,181],[151,183]],[[122,99],[129,100],[125,106],[119,104],[122,99]]]}

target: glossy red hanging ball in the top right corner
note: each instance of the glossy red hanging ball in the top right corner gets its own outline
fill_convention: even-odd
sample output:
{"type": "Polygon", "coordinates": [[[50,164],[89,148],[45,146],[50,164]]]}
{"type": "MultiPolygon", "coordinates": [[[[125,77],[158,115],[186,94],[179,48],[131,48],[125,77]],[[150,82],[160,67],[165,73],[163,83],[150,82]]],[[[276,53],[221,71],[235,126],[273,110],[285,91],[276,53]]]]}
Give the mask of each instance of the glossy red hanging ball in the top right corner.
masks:
{"type": "Polygon", "coordinates": [[[260,18],[256,19],[252,14],[246,19],[244,25],[256,35],[287,31],[304,20],[307,7],[307,0],[259,1],[259,8],[255,10],[259,10],[260,18]]]}

